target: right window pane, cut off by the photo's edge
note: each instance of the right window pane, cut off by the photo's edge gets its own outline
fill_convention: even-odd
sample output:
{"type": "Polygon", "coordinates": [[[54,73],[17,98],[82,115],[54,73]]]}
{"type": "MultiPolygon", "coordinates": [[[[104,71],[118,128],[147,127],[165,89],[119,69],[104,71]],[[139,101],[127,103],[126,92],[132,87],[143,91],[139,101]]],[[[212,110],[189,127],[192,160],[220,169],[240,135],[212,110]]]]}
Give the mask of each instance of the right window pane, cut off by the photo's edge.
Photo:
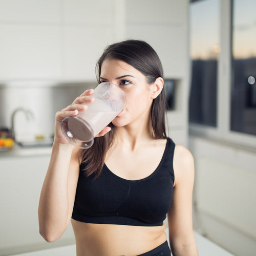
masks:
{"type": "Polygon", "coordinates": [[[256,2],[233,0],[231,130],[256,134],[256,2]]]}

